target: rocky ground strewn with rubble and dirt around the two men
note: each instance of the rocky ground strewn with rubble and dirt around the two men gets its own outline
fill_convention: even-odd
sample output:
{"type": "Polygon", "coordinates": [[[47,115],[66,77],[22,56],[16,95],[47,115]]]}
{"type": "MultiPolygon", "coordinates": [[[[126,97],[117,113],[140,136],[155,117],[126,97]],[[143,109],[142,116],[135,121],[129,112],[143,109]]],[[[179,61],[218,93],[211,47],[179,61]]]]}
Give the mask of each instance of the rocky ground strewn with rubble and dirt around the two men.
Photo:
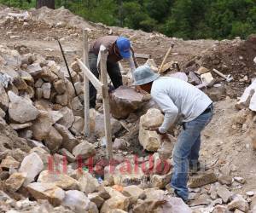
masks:
{"type": "Polygon", "coordinates": [[[0,17],[1,212],[256,212],[255,97],[236,100],[255,78],[255,37],[183,41],[90,23],[66,9],[0,6],[0,17]],[[195,84],[214,101],[214,117],[202,135],[202,170],[189,176],[188,204],[168,187],[179,130],[170,135],[172,144],[146,130],[163,115],[148,95],[127,87],[125,62],[125,86],[111,95],[113,161],[106,158],[101,95],[90,110],[91,136],[84,138],[83,73],[75,61],[82,55],[84,28],[89,41],[130,37],[137,54],[154,59],[139,58],[139,64],[153,68],[174,43],[163,74],[195,84]],[[226,82],[213,68],[234,79],[226,82]]]}

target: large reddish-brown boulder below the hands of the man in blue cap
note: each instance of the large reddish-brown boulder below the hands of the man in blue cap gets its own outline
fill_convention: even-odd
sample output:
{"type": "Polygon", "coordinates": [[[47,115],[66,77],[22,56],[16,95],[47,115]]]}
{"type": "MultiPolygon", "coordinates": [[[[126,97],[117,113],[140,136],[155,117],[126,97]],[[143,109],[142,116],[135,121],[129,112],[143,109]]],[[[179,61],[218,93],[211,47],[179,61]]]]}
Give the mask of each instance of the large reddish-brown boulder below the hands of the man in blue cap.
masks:
{"type": "Polygon", "coordinates": [[[135,89],[120,86],[110,95],[110,109],[113,118],[127,118],[131,112],[135,112],[143,105],[143,94],[135,89]]]}

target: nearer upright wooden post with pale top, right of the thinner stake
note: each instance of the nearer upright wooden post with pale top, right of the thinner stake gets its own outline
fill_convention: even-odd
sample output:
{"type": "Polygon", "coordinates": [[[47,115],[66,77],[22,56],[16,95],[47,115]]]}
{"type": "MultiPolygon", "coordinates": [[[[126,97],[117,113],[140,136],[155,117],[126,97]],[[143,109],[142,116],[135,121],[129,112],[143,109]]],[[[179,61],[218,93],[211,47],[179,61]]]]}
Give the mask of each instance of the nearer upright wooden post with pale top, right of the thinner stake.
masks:
{"type": "Polygon", "coordinates": [[[102,98],[103,98],[103,110],[105,121],[105,137],[107,140],[108,159],[113,158],[112,148],[112,136],[111,136],[111,124],[110,124],[110,108],[109,108],[109,95],[108,95],[108,76],[107,76],[107,57],[108,51],[104,46],[101,46],[101,78],[102,78],[102,98]]]}

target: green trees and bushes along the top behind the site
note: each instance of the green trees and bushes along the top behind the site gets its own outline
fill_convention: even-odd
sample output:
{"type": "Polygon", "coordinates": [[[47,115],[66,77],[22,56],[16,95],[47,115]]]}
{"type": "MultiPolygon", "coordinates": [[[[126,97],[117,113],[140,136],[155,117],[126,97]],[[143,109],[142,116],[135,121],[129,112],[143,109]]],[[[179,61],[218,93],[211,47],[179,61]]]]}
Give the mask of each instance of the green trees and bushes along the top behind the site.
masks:
{"type": "MultiPolygon", "coordinates": [[[[36,0],[0,0],[28,9],[36,0]]],[[[86,20],[127,26],[169,37],[233,38],[256,33],[255,0],[55,0],[86,20]]]]}

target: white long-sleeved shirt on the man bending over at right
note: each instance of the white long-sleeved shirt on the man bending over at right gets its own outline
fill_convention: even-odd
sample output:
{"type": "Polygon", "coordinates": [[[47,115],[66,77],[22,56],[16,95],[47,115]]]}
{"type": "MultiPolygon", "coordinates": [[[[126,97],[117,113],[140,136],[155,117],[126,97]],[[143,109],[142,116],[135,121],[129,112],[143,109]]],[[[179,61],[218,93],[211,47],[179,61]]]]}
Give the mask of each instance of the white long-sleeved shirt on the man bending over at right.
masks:
{"type": "Polygon", "coordinates": [[[197,118],[212,103],[212,100],[200,89],[190,83],[172,77],[160,77],[154,80],[151,96],[165,113],[160,133],[166,133],[175,123],[177,116],[182,122],[197,118]]]}

